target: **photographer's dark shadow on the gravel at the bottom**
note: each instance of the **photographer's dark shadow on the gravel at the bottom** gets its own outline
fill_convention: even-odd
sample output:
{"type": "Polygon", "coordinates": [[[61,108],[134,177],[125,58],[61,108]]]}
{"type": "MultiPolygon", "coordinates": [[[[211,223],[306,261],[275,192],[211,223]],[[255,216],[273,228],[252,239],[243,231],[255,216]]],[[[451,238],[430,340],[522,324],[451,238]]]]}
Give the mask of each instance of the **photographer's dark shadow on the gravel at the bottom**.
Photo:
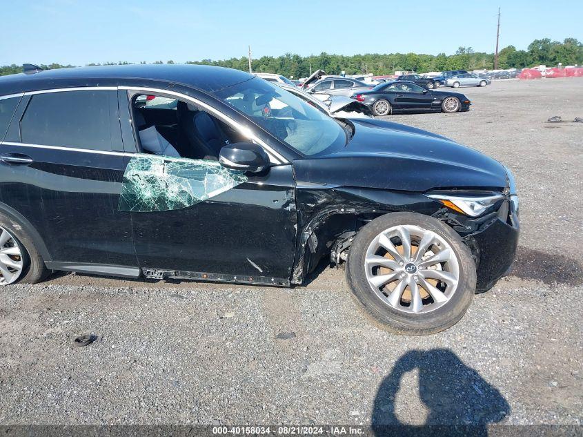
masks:
{"type": "MultiPolygon", "coordinates": [[[[487,436],[487,425],[500,422],[510,411],[500,391],[480,373],[464,365],[451,350],[414,350],[399,358],[382,381],[375,397],[371,425],[375,436],[487,436]],[[419,398],[428,410],[422,426],[404,425],[395,414],[395,396],[401,380],[405,373],[415,369],[419,370],[419,398]]],[[[422,411],[411,408],[408,414],[422,414],[422,411]]]]}

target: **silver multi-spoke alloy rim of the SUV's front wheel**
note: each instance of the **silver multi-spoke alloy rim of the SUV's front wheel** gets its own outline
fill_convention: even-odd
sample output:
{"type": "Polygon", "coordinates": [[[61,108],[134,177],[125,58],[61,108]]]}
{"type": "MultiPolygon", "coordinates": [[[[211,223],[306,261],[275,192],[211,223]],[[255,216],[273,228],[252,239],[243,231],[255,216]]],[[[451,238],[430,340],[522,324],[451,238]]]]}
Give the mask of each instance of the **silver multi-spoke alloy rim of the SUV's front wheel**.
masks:
{"type": "Polygon", "coordinates": [[[460,264],[446,240],[419,226],[393,226],[368,245],[366,279],[377,297],[404,313],[446,304],[460,281],[460,264]]]}

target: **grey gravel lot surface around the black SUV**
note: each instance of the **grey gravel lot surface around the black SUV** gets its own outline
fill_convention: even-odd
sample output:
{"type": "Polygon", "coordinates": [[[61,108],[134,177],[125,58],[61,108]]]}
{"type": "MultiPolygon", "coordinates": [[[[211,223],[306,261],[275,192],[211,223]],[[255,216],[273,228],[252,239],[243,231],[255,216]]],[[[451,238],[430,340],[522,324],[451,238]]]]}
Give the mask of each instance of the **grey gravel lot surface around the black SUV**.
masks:
{"type": "Polygon", "coordinates": [[[295,289],[55,275],[0,289],[0,423],[581,425],[583,78],[461,92],[468,113],[390,117],[517,177],[513,273],[453,328],[379,331],[333,269],[295,289]]]}

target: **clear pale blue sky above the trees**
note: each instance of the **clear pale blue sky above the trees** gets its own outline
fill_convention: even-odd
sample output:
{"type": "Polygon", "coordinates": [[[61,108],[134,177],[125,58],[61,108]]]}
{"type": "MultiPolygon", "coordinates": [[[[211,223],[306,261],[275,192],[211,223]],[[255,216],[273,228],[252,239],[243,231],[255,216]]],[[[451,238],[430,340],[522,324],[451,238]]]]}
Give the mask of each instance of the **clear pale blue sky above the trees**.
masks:
{"type": "Polygon", "coordinates": [[[583,1],[0,0],[0,65],[493,52],[583,41],[583,1]]]}

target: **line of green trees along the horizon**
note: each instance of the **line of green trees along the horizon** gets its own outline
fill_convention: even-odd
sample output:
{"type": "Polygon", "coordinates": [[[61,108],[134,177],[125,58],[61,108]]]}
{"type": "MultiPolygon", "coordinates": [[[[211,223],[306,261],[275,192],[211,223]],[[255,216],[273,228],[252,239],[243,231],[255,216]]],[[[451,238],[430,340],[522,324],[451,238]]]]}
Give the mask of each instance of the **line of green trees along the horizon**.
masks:
{"type": "MultiPolygon", "coordinates": [[[[583,64],[583,43],[575,38],[566,38],[563,42],[551,41],[549,38],[535,39],[526,50],[517,50],[515,46],[507,46],[498,54],[499,68],[525,68],[544,64],[557,66],[561,63],[567,65],[583,64]]],[[[95,65],[123,65],[130,64],[125,61],[106,62],[95,65]]],[[[146,64],[146,62],[141,62],[146,64]]],[[[153,64],[164,64],[164,61],[156,61],[153,64]]],[[[166,64],[175,64],[167,61],[166,64]]],[[[247,57],[224,59],[215,61],[203,59],[201,61],[187,61],[186,64],[202,64],[248,70],[247,57]]],[[[50,64],[42,65],[43,68],[65,68],[70,65],[50,64]]],[[[322,52],[319,55],[302,57],[286,53],[279,57],[264,56],[253,59],[252,68],[257,72],[275,72],[295,79],[306,77],[310,71],[322,69],[328,74],[338,74],[342,71],[347,75],[368,74],[388,75],[395,70],[416,71],[419,73],[444,70],[491,70],[494,67],[493,53],[475,52],[471,47],[460,47],[455,55],[418,55],[416,53],[390,53],[381,55],[378,53],[366,55],[330,55],[322,52]]],[[[0,75],[12,75],[22,72],[22,67],[12,64],[0,66],[0,75]]]]}

